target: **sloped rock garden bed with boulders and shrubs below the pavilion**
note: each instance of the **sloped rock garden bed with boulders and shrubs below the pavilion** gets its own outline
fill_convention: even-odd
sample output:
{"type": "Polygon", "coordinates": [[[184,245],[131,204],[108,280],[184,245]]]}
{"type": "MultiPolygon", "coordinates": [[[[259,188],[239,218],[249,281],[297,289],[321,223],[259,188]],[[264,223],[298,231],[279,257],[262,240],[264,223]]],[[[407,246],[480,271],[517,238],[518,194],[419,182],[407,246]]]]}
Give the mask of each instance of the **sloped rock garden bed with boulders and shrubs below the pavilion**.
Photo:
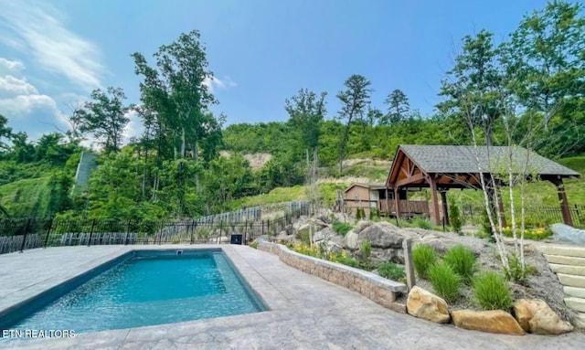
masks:
{"type": "MultiPolygon", "coordinates": [[[[378,266],[382,270],[381,266],[387,264],[398,267],[398,269],[391,269],[393,273],[396,273],[396,270],[400,271],[400,264],[404,264],[402,244],[405,239],[410,239],[414,249],[425,246],[436,252],[437,261],[431,266],[434,268],[442,264],[444,266],[438,269],[441,270],[441,273],[452,273],[453,280],[455,280],[453,288],[456,288],[454,294],[456,298],[447,299],[450,302],[446,302],[445,298],[440,296],[441,293],[444,295],[443,288],[449,286],[439,286],[436,283],[433,285],[432,274],[436,271],[429,273],[431,277],[424,276],[425,278],[421,279],[420,271],[417,270],[416,285],[410,292],[401,293],[400,289],[395,289],[393,291],[396,293],[395,296],[380,298],[386,299],[387,302],[377,301],[378,303],[386,304],[384,306],[396,311],[406,311],[412,316],[434,323],[453,323],[459,328],[497,334],[550,335],[564,334],[574,330],[574,326],[569,321],[573,321],[575,313],[563,301],[563,286],[558,281],[557,275],[550,269],[542,253],[536,249],[536,243],[532,244],[530,241],[526,241],[525,247],[526,262],[531,274],[524,281],[514,282],[506,281],[499,273],[501,268],[495,246],[487,239],[422,228],[399,228],[386,221],[360,221],[352,226],[353,228],[343,235],[335,232],[334,226],[328,222],[327,218],[307,218],[296,223],[288,232],[282,231],[276,238],[264,237],[262,239],[280,243],[288,242],[289,247],[293,248],[295,245],[292,242],[296,242],[295,244],[300,244],[300,241],[307,243],[310,236],[314,242],[312,250],[314,257],[320,257],[319,252],[322,253],[324,259],[333,261],[335,258],[331,259],[331,257],[347,256],[348,258],[340,258],[335,262],[348,264],[346,260],[352,260],[352,266],[357,266],[359,263],[359,267],[371,269],[374,273],[378,272],[378,266]],[[445,259],[445,255],[451,255],[451,257],[445,259]],[[469,269],[465,270],[464,266],[456,266],[457,264],[452,262],[462,259],[473,260],[470,262],[473,263],[471,272],[469,269]],[[444,260],[452,261],[447,263],[444,260]],[[452,268],[453,265],[455,265],[454,268],[452,268]],[[482,283],[487,286],[487,291],[491,291],[490,288],[496,288],[495,298],[499,298],[499,300],[490,300],[492,292],[484,293],[487,294],[487,297],[482,297],[479,286],[481,283],[478,282],[480,270],[487,271],[481,274],[481,279],[484,280],[482,283]],[[473,273],[475,277],[472,278],[471,274],[473,273]],[[490,276],[486,277],[485,275],[490,276]],[[494,287],[490,283],[500,283],[501,285],[494,287]],[[498,295],[499,290],[504,291],[502,295],[498,295]],[[506,297],[506,293],[509,293],[509,297],[506,297]],[[478,301],[478,298],[486,300],[478,301]],[[489,306],[491,302],[495,302],[492,307],[489,306]],[[502,305],[498,302],[502,302],[502,305]]],[[[335,262],[327,262],[332,266],[338,265],[335,262]]],[[[310,273],[312,269],[315,271],[306,263],[303,266],[302,270],[310,273]]],[[[354,268],[348,269],[356,270],[354,268]]],[[[335,271],[335,268],[332,271],[335,271]]],[[[357,283],[356,278],[352,281],[344,280],[339,277],[337,272],[331,273],[327,270],[321,272],[323,273],[317,273],[317,275],[325,280],[332,281],[329,277],[335,276],[333,280],[337,284],[356,292],[362,292],[368,298],[376,301],[372,298],[375,292],[367,292],[367,288],[362,291],[361,287],[352,286],[352,281],[357,286],[364,284],[363,281],[357,283]],[[339,281],[343,281],[343,283],[339,281]]],[[[441,274],[440,276],[441,280],[445,280],[441,274]]],[[[401,280],[401,282],[406,282],[406,279],[401,280]]],[[[579,325],[578,321],[575,319],[576,325],[579,325]]]]}

